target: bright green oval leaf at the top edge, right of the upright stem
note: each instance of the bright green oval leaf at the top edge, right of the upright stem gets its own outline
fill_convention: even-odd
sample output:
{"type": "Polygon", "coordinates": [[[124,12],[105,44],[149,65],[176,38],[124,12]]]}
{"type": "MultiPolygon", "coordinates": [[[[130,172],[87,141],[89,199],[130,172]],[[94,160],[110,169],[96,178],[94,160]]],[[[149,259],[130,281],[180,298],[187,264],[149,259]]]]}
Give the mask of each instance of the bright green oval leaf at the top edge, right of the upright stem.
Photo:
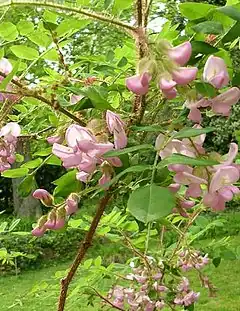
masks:
{"type": "Polygon", "coordinates": [[[189,20],[206,17],[216,6],[206,3],[186,2],[179,5],[181,14],[189,20]]]}

